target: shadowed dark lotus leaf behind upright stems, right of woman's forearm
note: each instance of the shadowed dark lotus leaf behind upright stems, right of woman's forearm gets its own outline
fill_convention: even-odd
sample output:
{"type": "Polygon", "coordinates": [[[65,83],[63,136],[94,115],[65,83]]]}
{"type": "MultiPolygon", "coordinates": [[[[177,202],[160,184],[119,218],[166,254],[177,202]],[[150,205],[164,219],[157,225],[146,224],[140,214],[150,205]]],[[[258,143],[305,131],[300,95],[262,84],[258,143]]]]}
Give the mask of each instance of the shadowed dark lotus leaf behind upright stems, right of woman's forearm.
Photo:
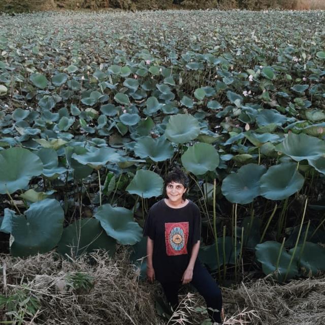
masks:
{"type": "MultiPolygon", "coordinates": [[[[223,238],[218,238],[218,252],[219,252],[219,266],[223,265],[223,238]]],[[[234,265],[235,264],[235,246],[234,241],[231,237],[226,236],[224,238],[224,253],[225,253],[225,264],[226,265],[234,265]]],[[[236,255],[240,253],[240,244],[237,243],[237,251],[236,255]]],[[[211,270],[218,269],[218,261],[217,261],[217,250],[215,247],[215,243],[209,246],[205,246],[200,248],[199,256],[202,263],[206,264],[211,270]]]]}

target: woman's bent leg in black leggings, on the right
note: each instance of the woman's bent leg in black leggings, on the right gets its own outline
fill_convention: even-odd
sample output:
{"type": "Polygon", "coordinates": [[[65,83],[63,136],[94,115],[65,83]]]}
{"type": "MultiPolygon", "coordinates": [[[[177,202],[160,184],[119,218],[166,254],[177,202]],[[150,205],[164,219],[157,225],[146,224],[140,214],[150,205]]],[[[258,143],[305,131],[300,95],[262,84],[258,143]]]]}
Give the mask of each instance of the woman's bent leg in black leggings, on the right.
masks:
{"type": "Polygon", "coordinates": [[[191,284],[196,287],[199,293],[203,296],[208,308],[218,310],[214,312],[208,309],[210,318],[217,323],[222,323],[220,317],[222,308],[221,290],[208,270],[199,261],[194,265],[191,284]]]}

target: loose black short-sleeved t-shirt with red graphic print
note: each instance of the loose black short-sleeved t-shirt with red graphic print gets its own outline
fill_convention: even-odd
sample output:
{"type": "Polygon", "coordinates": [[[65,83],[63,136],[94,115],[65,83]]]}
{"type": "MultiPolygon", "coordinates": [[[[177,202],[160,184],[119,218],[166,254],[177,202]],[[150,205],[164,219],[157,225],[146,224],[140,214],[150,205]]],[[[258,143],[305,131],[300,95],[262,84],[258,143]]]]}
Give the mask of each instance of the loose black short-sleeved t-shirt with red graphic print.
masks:
{"type": "Polygon", "coordinates": [[[192,201],[182,208],[171,208],[165,200],[149,210],[143,235],[153,240],[152,264],[160,282],[180,281],[201,238],[200,209],[192,201]]]}

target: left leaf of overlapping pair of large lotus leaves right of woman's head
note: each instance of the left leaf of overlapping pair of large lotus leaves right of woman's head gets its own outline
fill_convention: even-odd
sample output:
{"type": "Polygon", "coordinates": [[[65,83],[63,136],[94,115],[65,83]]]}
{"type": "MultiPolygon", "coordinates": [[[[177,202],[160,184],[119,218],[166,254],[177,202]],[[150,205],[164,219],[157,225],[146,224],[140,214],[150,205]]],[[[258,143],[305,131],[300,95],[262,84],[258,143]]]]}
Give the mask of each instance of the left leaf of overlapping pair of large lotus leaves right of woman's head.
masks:
{"type": "Polygon", "coordinates": [[[221,191],[232,203],[246,204],[261,194],[260,179],[266,172],[261,165],[247,164],[237,173],[229,174],[222,182],[221,191]]]}

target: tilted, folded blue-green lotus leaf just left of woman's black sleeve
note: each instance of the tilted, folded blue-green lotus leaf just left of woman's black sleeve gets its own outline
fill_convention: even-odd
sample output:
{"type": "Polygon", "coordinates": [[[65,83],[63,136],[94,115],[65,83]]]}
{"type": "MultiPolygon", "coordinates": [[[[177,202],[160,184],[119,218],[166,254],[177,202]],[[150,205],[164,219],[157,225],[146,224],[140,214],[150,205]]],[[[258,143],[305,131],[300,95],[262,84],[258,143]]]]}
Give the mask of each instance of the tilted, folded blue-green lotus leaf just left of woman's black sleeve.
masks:
{"type": "Polygon", "coordinates": [[[106,234],[122,245],[134,245],[142,238],[142,228],[128,209],[104,204],[98,208],[94,217],[100,220],[106,234]]]}

